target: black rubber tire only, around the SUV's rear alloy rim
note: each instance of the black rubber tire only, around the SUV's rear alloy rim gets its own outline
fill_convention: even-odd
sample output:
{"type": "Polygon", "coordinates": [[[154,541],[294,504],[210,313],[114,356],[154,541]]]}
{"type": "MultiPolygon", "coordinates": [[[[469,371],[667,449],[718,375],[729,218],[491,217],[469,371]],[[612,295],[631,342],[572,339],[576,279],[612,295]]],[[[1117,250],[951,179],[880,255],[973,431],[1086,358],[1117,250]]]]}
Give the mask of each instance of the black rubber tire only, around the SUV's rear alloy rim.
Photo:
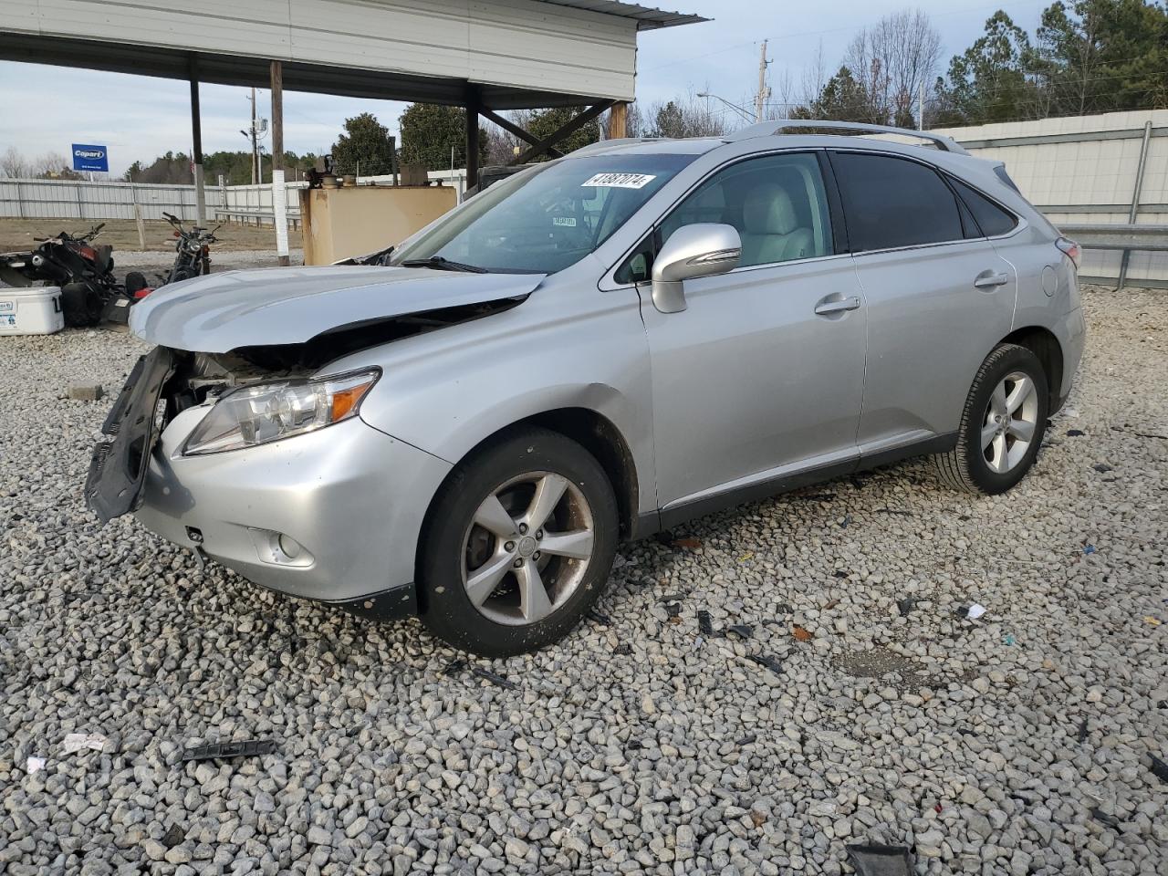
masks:
{"type": "MultiPolygon", "coordinates": [[[[1003,343],[986,356],[978,369],[978,375],[969,388],[969,395],[961,412],[961,426],[958,432],[957,446],[948,453],[933,457],[937,474],[940,479],[966,493],[997,495],[1017,484],[1026,477],[1038,456],[1038,447],[1047,430],[1047,415],[1050,409],[1047,373],[1038,357],[1014,343],[1003,343]],[[997,385],[1011,374],[1024,374],[1034,384],[1037,397],[1036,422],[1034,432],[1024,454],[1008,471],[993,470],[981,444],[982,429],[989,415],[989,402],[997,385]]],[[[992,427],[992,426],[988,426],[992,427]]],[[[1003,439],[1008,440],[1008,439],[1003,439]]]]}

